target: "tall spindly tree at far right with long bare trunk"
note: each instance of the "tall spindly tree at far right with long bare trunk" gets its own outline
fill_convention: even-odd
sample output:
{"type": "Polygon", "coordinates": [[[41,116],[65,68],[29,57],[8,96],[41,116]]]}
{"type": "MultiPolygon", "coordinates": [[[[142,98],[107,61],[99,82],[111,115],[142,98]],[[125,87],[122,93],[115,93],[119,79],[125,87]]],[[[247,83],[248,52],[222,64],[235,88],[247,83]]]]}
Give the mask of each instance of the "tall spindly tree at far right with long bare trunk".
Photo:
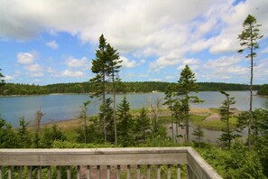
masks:
{"type": "MultiPolygon", "coordinates": [[[[250,59],[250,100],[249,100],[249,123],[248,123],[248,147],[251,148],[252,141],[252,125],[255,123],[253,121],[253,78],[254,78],[254,58],[256,57],[257,53],[256,50],[259,49],[258,41],[263,38],[263,35],[260,34],[260,30],[258,29],[261,24],[257,24],[256,18],[248,14],[244,23],[243,23],[243,31],[242,33],[238,34],[238,40],[240,41],[241,49],[237,52],[248,52],[245,58],[250,59]]],[[[257,131],[254,131],[254,135],[257,131]]]]}

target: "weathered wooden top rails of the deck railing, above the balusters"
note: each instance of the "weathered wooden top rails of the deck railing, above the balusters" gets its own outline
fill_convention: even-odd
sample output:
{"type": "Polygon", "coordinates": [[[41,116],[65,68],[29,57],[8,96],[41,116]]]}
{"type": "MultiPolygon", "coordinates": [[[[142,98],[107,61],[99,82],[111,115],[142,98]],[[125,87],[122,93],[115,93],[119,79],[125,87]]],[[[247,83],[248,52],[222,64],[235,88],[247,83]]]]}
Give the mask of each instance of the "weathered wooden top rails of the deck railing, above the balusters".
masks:
{"type": "Polygon", "coordinates": [[[221,178],[192,147],[0,149],[0,166],[51,165],[188,165],[193,178],[221,178]]]}

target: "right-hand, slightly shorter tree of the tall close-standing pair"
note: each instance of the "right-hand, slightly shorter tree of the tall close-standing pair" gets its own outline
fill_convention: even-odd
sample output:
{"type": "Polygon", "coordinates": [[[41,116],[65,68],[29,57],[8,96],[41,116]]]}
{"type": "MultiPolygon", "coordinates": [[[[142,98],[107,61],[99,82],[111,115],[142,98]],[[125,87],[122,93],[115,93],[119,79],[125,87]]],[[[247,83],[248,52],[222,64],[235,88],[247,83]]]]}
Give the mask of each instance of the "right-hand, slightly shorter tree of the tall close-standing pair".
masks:
{"type": "Polygon", "coordinates": [[[116,78],[117,73],[119,72],[119,68],[122,61],[119,60],[119,53],[111,47],[111,45],[108,43],[106,48],[106,56],[108,58],[108,76],[112,79],[112,85],[113,85],[113,118],[114,118],[114,127],[115,127],[115,143],[117,146],[117,127],[116,127],[116,80],[119,79],[116,78]]]}

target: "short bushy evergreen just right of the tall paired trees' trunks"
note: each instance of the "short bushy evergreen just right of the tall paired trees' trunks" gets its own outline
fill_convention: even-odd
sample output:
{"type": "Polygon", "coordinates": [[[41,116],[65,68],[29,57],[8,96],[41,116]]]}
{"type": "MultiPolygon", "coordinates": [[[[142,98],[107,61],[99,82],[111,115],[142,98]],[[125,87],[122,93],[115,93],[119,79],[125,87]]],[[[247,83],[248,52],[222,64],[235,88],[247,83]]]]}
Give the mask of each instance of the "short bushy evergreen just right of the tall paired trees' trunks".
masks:
{"type": "Polygon", "coordinates": [[[134,144],[134,122],[130,114],[129,103],[125,97],[117,106],[117,120],[119,144],[122,146],[132,146],[134,144]]]}

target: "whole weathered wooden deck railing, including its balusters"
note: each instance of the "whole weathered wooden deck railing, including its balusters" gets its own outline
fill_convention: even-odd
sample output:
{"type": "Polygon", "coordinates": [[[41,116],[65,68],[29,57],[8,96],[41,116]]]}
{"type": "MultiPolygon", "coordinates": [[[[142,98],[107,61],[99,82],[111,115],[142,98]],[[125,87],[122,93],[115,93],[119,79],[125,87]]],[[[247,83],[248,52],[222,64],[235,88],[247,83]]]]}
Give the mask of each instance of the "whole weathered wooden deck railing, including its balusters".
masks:
{"type": "Polygon", "coordinates": [[[25,167],[28,178],[32,178],[32,168],[36,171],[37,178],[42,178],[44,168],[48,178],[53,178],[51,166],[56,166],[57,178],[61,178],[60,169],[63,166],[66,170],[66,178],[72,177],[71,166],[76,166],[77,178],[101,178],[103,173],[106,178],[110,178],[112,167],[116,167],[116,176],[114,176],[116,178],[120,178],[123,168],[126,170],[124,175],[126,178],[141,178],[141,169],[144,165],[147,178],[152,175],[152,167],[155,168],[156,174],[151,177],[161,178],[162,165],[167,166],[167,174],[165,174],[167,178],[171,178],[171,174],[172,178],[173,175],[180,178],[180,165],[187,165],[188,178],[221,178],[191,147],[0,149],[0,179],[4,179],[4,175],[10,179],[14,178],[14,169],[16,177],[23,178],[25,167]],[[95,175],[92,174],[93,168],[97,173],[95,175]]]}

